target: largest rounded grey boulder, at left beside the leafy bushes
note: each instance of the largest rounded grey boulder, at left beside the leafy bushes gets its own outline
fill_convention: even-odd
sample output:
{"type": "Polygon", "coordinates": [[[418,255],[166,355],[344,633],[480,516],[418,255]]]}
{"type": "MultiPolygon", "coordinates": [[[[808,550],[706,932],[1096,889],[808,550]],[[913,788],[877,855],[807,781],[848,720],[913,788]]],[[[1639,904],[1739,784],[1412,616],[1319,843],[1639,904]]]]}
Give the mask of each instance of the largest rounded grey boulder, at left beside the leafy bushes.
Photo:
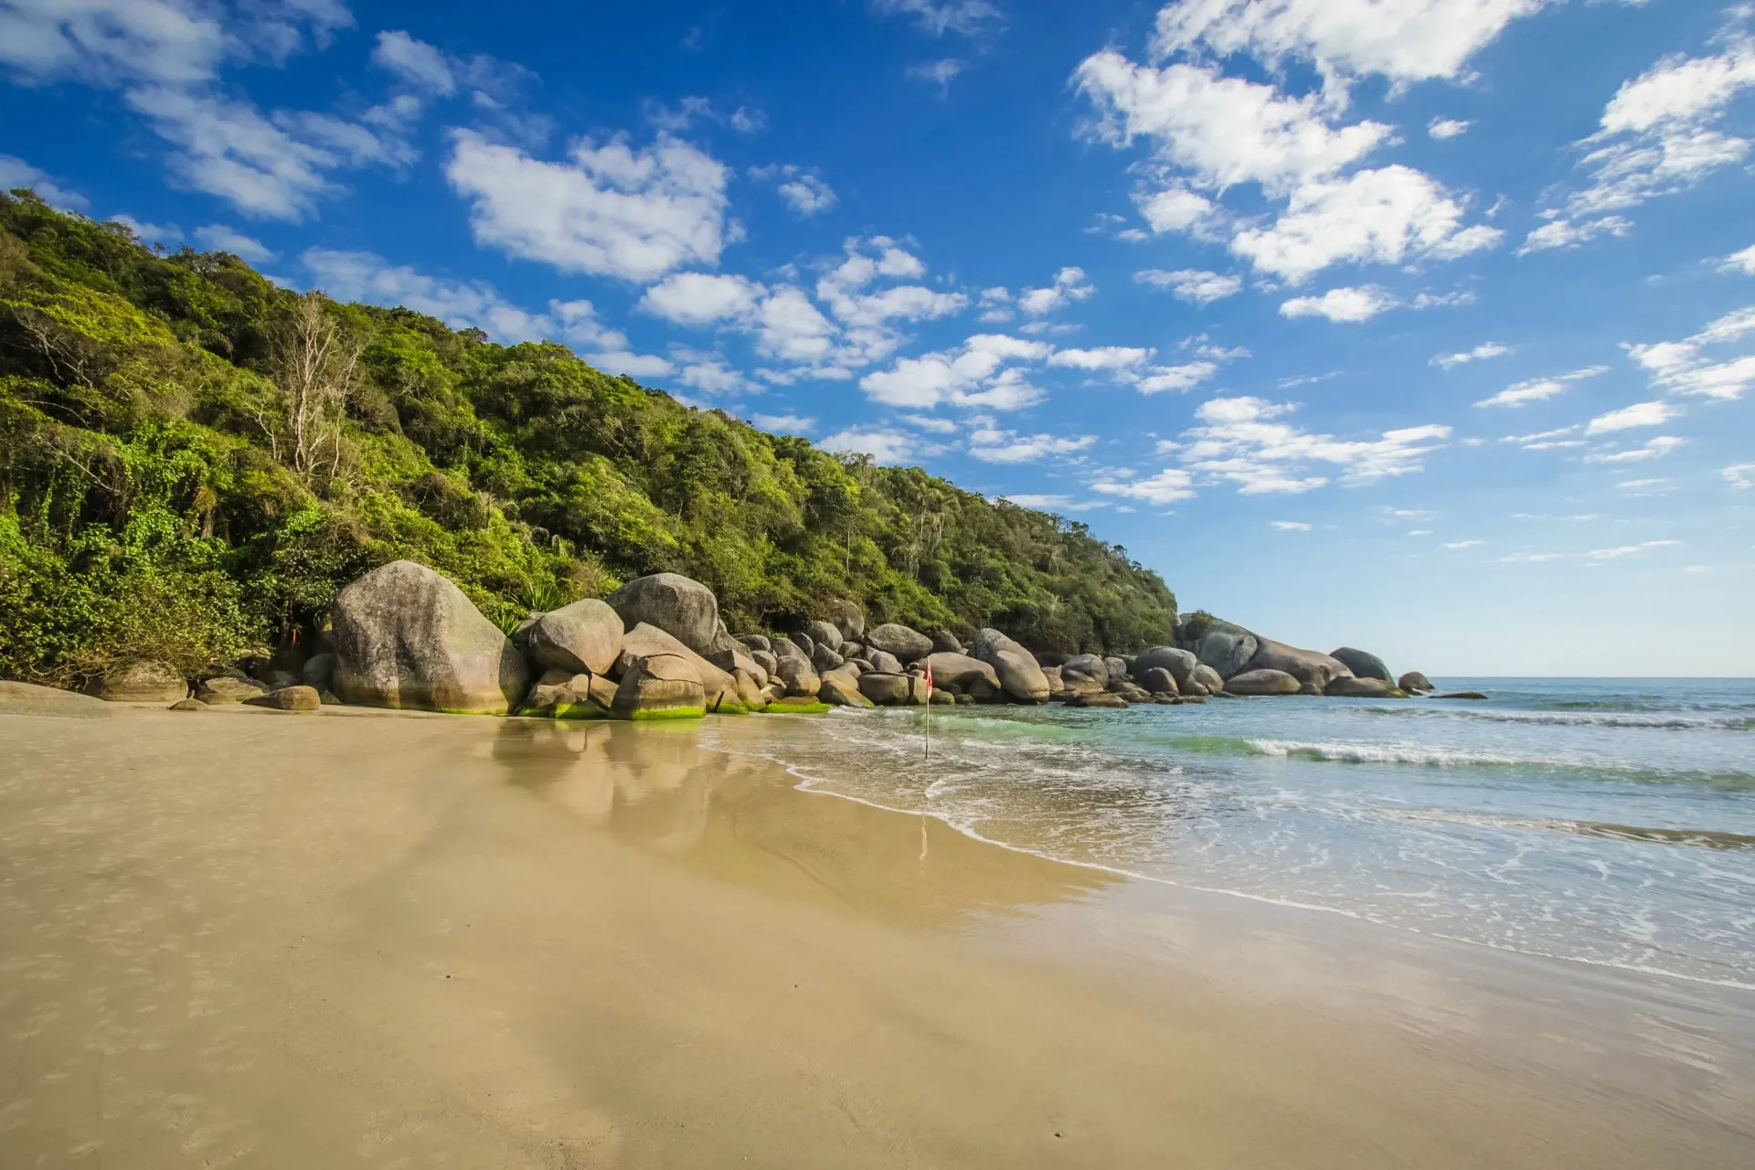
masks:
{"type": "Polygon", "coordinates": [[[335,598],[333,621],[333,691],[346,703],[500,716],[528,689],[518,647],[425,565],[365,574],[335,598]]]}

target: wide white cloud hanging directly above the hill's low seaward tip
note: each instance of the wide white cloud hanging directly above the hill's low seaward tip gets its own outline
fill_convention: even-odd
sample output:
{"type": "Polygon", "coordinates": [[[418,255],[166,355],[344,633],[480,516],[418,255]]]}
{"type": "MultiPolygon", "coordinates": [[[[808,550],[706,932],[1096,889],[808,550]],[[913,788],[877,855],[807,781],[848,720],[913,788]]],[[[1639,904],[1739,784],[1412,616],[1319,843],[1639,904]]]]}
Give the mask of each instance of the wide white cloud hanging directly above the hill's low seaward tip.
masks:
{"type": "Polygon", "coordinates": [[[1418,472],[1451,433],[1429,424],[1346,440],[1279,421],[1292,410],[1292,403],[1250,396],[1204,402],[1195,409],[1197,424],[1181,435],[1178,460],[1209,479],[1239,484],[1243,495],[1300,493],[1329,482],[1327,475],[1307,474],[1313,463],[1339,467],[1346,484],[1418,472]]]}

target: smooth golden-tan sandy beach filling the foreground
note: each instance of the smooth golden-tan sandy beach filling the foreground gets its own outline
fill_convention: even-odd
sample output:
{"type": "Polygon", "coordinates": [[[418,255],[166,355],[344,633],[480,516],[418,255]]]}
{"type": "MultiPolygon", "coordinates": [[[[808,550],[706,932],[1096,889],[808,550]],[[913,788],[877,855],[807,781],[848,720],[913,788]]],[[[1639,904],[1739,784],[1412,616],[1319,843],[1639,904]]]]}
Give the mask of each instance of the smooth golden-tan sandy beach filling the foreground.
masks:
{"type": "Polygon", "coordinates": [[[0,716],[0,1166],[1755,1163],[1746,998],[1148,888],[700,737],[0,716]]]}

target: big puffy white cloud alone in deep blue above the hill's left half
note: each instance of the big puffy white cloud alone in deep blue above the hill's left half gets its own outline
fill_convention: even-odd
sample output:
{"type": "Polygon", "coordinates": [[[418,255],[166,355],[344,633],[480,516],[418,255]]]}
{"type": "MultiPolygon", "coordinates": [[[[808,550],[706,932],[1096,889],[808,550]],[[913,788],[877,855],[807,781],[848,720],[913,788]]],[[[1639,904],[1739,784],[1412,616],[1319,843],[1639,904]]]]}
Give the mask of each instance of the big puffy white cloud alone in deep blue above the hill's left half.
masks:
{"type": "Polygon", "coordinates": [[[456,130],[446,179],[479,244],[562,272],[651,281],[716,263],[728,233],[725,167],[665,133],[644,149],[579,139],[551,163],[456,130]]]}

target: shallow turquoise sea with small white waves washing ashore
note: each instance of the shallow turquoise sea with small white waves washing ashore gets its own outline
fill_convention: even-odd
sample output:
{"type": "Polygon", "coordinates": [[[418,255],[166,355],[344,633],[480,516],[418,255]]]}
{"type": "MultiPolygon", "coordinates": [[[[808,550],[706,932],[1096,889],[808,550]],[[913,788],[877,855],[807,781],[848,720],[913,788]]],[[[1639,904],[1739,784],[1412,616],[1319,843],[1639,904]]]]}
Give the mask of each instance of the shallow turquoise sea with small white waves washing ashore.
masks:
{"type": "Polygon", "coordinates": [[[806,788],[1032,853],[1755,986],[1755,681],[1443,679],[1488,702],[837,712],[806,788]]]}

